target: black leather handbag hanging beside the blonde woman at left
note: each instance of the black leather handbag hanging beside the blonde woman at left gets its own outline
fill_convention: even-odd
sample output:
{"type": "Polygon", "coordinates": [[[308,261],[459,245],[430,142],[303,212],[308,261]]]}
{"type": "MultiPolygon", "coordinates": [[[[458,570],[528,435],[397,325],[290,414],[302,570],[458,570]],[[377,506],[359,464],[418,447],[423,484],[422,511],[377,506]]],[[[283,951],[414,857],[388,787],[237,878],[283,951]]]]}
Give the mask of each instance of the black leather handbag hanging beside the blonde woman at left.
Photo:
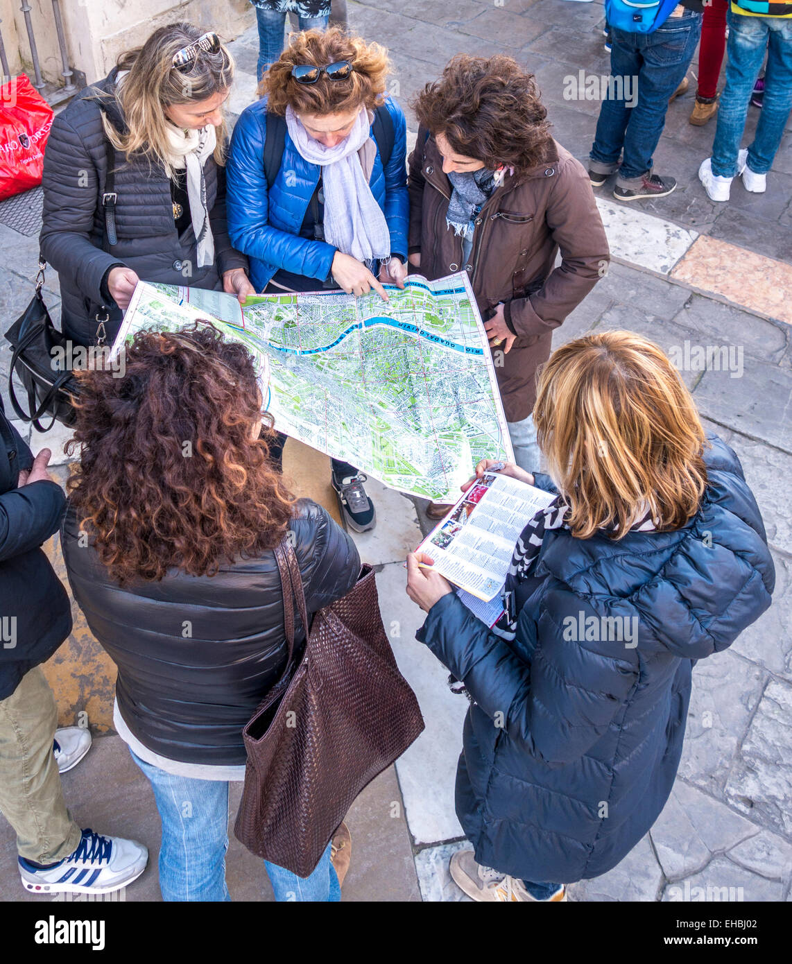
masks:
{"type": "MultiPolygon", "coordinates": [[[[56,421],[73,425],[77,416],[74,399],[79,394],[77,380],[67,365],[71,357],[69,339],[52,324],[41,295],[45,267],[46,263],[40,260],[36,293],[6,332],[6,339],[13,346],[9,371],[9,397],[13,411],[23,421],[32,422],[40,432],[48,432],[56,421]],[[27,393],[27,411],[16,397],[14,372],[27,393]],[[52,418],[46,428],[40,422],[43,415],[52,418]]],[[[104,317],[96,315],[97,345],[104,344],[104,326],[109,317],[107,311],[104,317]]]]}

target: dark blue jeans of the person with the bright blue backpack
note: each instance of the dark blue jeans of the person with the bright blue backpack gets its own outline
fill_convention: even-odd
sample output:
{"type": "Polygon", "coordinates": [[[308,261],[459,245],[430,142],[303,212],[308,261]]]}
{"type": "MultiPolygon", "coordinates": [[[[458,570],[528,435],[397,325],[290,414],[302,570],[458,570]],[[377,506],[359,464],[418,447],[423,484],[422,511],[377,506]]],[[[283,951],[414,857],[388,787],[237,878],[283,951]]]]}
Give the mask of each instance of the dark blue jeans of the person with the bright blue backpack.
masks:
{"type": "Polygon", "coordinates": [[[621,85],[602,101],[592,146],[595,174],[613,174],[624,157],[617,186],[631,188],[651,171],[652,154],[666,122],[669,97],[687,73],[701,34],[701,14],[685,10],[652,34],[612,29],[611,76],[621,85]],[[630,107],[637,89],[637,102],[630,107]],[[616,94],[619,94],[617,97],[616,94]]]}

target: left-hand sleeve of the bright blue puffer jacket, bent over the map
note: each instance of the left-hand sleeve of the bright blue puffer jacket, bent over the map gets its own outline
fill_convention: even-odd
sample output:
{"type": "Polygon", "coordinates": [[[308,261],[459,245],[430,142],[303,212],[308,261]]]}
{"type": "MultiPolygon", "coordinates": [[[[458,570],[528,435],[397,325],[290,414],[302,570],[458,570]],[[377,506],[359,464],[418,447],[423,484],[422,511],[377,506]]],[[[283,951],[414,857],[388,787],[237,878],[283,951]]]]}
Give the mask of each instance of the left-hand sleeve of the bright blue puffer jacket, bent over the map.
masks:
{"type": "Polygon", "coordinates": [[[296,275],[325,281],[335,248],[269,223],[270,197],[264,173],[266,113],[251,104],[237,120],[225,164],[225,212],[234,248],[296,275]]]}

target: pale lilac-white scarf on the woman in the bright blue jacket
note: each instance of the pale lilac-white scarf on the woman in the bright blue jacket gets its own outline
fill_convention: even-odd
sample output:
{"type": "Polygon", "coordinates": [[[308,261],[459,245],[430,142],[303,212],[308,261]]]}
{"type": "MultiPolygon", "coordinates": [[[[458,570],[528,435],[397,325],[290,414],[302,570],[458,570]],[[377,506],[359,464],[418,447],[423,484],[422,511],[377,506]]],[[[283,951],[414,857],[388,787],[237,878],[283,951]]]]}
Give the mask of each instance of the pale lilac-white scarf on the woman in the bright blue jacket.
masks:
{"type": "Polygon", "coordinates": [[[342,254],[371,264],[390,256],[390,231],[375,201],[357,151],[371,136],[368,111],[360,108],[350,134],[335,147],[314,141],[291,107],[286,127],[298,152],[309,164],[323,168],[325,185],[325,240],[342,254]]]}

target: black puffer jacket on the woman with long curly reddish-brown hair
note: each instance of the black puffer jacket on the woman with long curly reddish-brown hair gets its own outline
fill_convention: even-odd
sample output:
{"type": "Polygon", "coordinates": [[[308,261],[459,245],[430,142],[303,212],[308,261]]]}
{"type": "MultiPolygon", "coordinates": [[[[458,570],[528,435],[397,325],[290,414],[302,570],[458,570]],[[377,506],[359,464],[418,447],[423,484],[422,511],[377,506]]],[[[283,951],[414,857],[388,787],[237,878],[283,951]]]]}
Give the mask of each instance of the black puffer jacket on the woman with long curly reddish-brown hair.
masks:
{"type": "MultiPolygon", "coordinates": [[[[310,615],[349,592],[360,560],[350,537],[308,499],[297,503],[291,529],[310,615]]],[[[217,576],[173,571],[122,589],[78,539],[69,508],[63,545],[71,590],[118,664],[116,697],[134,736],[171,760],[245,763],[242,728],[287,653],[273,552],[224,565],[217,576]]]]}

